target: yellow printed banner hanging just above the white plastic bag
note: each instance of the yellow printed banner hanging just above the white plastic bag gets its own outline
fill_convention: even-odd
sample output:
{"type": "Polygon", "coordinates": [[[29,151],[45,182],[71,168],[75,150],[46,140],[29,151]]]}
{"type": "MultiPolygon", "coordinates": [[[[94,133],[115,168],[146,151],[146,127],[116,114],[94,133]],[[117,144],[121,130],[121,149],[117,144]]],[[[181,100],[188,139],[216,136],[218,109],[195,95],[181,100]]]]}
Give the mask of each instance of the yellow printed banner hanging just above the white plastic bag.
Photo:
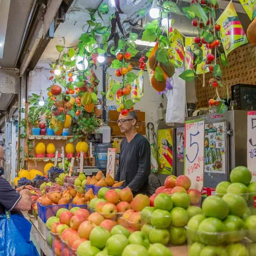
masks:
{"type": "Polygon", "coordinates": [[[169,41],[171,44],[168,49],[169,59],[175,66],[182,68],[185,59],[183,35],[177,29],[174,29],[171,32],[169,41]]]}

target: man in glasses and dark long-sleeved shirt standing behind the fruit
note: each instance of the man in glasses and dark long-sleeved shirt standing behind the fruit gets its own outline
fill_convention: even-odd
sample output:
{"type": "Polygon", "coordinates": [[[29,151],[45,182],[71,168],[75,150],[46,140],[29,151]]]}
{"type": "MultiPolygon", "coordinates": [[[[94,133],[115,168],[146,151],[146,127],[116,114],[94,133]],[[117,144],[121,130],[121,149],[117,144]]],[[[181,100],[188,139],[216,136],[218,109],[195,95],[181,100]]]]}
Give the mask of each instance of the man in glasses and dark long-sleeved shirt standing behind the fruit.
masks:
{"type": "Polygon", "coordinates": [[[134,196],[147,194],[150,174],[150,145],[145,137],[136,131],[137,114],[129,112],[127,116],[119,115],[118,125],[126,138],[121,143],[119,167],[116,180],[123,181],[134,196]]]}

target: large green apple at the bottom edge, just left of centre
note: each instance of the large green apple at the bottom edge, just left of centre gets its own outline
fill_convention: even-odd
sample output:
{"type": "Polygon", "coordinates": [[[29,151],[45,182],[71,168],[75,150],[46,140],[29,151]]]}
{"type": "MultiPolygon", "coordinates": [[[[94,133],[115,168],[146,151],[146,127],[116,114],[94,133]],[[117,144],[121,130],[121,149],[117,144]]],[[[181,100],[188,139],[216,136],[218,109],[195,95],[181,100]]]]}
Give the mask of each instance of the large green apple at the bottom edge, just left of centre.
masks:
{"type": "Polygon", "coordinates": [[[125,235],[112,235],[107,240],[107,254],[113,256],[121,256],[125,247],[129,244],[128,238],[125,235]]]}

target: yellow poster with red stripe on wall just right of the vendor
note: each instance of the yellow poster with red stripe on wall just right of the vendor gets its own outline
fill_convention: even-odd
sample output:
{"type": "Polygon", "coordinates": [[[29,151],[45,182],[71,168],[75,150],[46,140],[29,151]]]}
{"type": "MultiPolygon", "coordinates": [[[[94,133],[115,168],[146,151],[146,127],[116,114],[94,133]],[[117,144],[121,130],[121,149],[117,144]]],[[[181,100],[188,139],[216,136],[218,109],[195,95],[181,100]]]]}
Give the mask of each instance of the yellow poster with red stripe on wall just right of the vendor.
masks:
{"type": "Polygon", "coordinates": [[[173,129],[157,131],[158,171],[161,174],[172,174],[173,170],[173,129]]]}

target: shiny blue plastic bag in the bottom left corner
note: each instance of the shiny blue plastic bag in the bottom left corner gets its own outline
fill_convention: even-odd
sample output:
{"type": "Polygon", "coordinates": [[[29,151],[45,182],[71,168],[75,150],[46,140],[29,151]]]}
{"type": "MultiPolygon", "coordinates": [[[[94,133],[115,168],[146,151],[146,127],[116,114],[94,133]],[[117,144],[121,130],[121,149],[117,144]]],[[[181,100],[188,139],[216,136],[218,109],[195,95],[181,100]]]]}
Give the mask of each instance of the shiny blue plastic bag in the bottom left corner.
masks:
{"type": "Polygon", "coordinates": [[[30,231],[31,223],[23,216],[0,215],[0,256],[39,256],[30,231]]]}

